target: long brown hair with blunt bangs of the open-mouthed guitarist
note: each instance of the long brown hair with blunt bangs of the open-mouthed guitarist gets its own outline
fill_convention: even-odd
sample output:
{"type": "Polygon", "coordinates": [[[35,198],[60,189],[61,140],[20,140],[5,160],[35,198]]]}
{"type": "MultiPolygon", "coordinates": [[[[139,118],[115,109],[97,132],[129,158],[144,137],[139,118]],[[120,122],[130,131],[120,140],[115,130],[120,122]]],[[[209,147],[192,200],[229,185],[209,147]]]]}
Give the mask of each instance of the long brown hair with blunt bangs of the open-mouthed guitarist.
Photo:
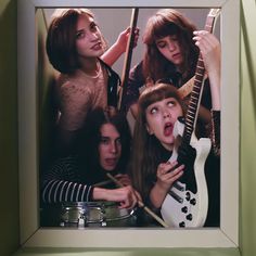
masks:
{"type": "Polygon", "coordinates": [[[145,111],[149,105],[167,98],[175,98],[180,103],[184,114],[184,103],[179,98],[177,88],[169,84],[156,82],[154,86],[148,87],[141,93],[138,102],[139,111],[133,132],[130,171],[132,184],[143,200],[149,196],[156,177],[157,166],[163,161],[161,155],[163,145],[155,136],[149,135],[146,130],[145,111]]]}

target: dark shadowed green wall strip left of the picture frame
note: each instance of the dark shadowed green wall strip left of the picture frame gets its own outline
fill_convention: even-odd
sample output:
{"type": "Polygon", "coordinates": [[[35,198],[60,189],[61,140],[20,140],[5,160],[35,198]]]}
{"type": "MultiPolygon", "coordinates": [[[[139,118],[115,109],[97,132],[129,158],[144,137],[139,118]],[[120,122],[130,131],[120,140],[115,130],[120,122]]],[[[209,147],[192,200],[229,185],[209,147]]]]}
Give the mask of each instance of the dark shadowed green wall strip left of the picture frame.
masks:
{"type": "Polygon", "coordinates": [[[16,1],[0,0],[0,255],[18,246],[16,1]]]}

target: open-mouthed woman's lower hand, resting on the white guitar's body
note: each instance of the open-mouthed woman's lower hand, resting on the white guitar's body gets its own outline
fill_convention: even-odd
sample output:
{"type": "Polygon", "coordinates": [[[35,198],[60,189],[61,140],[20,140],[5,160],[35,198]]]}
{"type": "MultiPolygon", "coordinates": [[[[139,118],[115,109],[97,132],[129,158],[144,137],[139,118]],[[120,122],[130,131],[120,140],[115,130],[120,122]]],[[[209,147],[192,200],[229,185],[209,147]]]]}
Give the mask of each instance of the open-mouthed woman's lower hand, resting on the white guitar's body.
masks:
{"type": "Polygon", "coordinates": [[[167,192],[172,183],[178,180],[184,170],[184,165],[178,166],[178,162],[167,162],[158,165],[156,177],[157,185],[167,192]]]}

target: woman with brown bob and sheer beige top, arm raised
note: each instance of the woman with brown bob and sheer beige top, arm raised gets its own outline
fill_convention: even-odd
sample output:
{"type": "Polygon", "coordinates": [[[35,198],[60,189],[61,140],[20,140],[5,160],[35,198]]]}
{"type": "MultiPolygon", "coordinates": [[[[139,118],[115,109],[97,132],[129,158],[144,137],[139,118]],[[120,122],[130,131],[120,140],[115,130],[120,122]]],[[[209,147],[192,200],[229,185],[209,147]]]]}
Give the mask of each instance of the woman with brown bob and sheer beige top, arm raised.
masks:
{"type": "Polygon", "coordinates": [[[106,51],[106,42],[90,10],[60,9],[53,14],[47,53],[60,72],[56,143],[61,152],[71,148],[88,112],[116,106],[119,77],[110,65],[125,52],[129,33],[129,28],[124,30],[106,51]]]}

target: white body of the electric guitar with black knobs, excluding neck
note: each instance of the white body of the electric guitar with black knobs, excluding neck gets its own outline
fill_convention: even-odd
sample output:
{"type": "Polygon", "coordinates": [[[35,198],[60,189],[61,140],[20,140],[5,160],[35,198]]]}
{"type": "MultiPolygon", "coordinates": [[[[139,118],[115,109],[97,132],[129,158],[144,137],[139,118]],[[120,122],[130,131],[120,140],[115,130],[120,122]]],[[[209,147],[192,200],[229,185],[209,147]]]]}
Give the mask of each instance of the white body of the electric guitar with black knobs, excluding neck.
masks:
{"type": "MultiPolygon", "coordinates": [[[[174,135],[176,141],[182,137],[184,125],[176,121],[174,135]]],[[[190,145],[195,150],[194,163],[188,168],[184,176],[194,176],[191,189],[181,180],[177,181],[166,195],[161,208],[162,216],[169,227],[176,228],[199,228],[203,227],[208,212],[208,190],[205,178],[205,162],[210,151],[210,140],[192,136],[190,145]],[[189,170],[190,168],[190,170],[189,170]],[[188,174],[185,174],[188,171],[188,174]]],[[[170,162],[178,159],[178,146],[175,145],[170,162]]],[[[179,161],[178,161],[179,162],[179,161]]]]}

